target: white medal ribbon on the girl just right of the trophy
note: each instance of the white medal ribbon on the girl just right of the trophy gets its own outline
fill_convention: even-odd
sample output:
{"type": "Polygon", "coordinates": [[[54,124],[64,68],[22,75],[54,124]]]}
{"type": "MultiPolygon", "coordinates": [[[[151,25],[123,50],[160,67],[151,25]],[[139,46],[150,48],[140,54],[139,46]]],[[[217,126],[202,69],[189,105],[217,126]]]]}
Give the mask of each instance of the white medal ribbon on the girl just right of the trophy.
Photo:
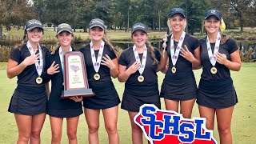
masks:
{"type": "Polygon", "coordinates": [[[105,42],[102,41],[101,46],[98,51],[98,58],[96,61],[96,55],[94,53],[94,45],[93,45],[93,42],[90,42],[90,54],[91,54],[91,59],[93,61],[94,70],[96,71],[96,73],[98,73],[99,67],[101,66],[104,45],[105,45],[105,42]]]}

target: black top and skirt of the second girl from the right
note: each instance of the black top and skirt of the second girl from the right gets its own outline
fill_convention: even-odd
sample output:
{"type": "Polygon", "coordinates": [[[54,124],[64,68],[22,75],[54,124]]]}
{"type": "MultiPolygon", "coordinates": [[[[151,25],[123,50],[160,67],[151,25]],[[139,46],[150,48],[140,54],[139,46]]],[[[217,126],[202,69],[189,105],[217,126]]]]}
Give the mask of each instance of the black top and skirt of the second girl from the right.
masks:
{"type": "MultiPolygon", "coordinates": [[[[199,46],[198,38],[186,34],[182,43],[183,48],[184,45],[194,54],[194,50],[199,46]]],[[[174,50],[176,50],[177,46],[178,42],[174,42],[174,50]]],[[[198,88],[192,71],[192,63],[179,55],[175,64],[176,73],[172,73],[171,68],[174,65],[170,54],[170,36],[168,37],[166,50],[169,57],[169,68],[162,82],[161,97],[174,101],[186,101],[196,98],[198,88]]]]}

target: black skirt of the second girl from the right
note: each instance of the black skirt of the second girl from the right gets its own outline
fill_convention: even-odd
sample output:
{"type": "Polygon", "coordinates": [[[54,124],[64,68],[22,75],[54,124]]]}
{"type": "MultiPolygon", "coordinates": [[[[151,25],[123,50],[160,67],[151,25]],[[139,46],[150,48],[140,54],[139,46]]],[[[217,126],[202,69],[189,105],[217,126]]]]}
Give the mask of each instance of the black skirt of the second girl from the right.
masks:
{"type": "Polygon", "coordinates": [[[194,74],[184,74],[175,78],[164,78],[160,96],[174,101],[186,101],[197,97],[198,87],[194,74]]]}

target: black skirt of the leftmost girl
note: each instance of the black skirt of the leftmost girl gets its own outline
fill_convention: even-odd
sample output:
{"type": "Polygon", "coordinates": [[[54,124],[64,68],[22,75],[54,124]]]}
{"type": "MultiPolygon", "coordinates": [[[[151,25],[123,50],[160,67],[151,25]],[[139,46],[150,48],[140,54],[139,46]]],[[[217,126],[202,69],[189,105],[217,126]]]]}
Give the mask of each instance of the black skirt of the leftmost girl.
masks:
{"type": "Polygon", "coordinates": [[[14,114],[36,115],[46,112],[47,94],[43,86],[17,86],[8,111],[14,114]]]}

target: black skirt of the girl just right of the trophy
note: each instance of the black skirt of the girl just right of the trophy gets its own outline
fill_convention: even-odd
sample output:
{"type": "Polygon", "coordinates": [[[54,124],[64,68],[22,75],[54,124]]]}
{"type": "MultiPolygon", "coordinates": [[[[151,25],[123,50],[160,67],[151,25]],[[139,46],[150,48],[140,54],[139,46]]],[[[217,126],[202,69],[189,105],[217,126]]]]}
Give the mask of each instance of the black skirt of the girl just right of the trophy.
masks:
{"type": "Polygon", "coordinates": [[[91,82],[90,88],[95,93],[94,96],[83,98],[83,106],[88,109],[107,109],[118,106],[120,99],[113,82],[91,82]]]}

